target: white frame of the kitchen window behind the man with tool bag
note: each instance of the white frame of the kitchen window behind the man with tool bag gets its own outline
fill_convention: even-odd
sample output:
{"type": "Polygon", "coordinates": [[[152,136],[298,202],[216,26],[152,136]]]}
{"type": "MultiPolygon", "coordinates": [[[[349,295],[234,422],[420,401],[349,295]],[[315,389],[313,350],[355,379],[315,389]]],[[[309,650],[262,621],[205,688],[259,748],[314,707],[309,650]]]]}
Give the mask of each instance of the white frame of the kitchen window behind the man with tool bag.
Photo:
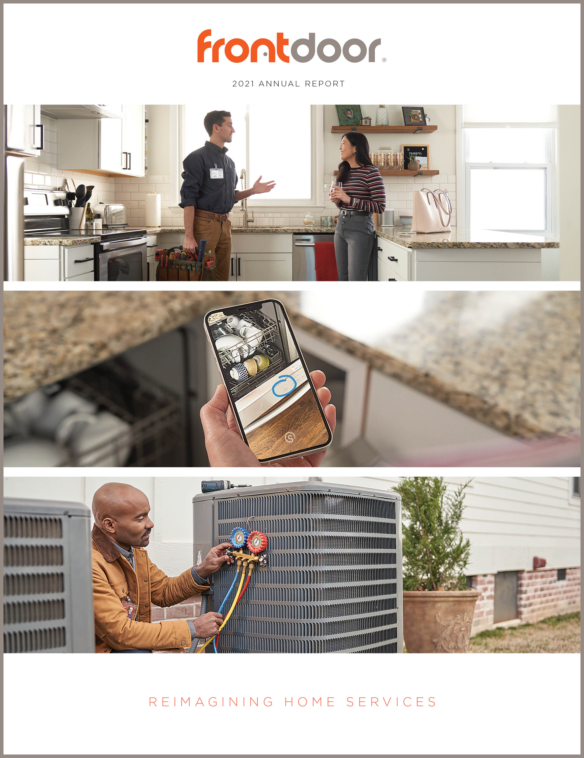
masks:
{"type": "MultiPolygon", "coordinates": [[[[184,105],[171,106],[171,208],[181,211],[178,207],[181,200],[181,183],[183,160],[185,158],[184,147],[184,118],[186,108],[184,105]]],[[[248,186],[250,183],[250,139],[249,139],[249,105],[246,105],[246,174],[248,186]]],[[[324,139],[325,108],[323,105],[310,106],[310,197],[309,198],[278,198],[259,199],[251,196],[247,201],[248,208],[266,208],[275,211],[277,208],[322,208],[325,205],[325,189],[322,177],[325,174],[325,139],[324,139]]],[[[290,166],[290,169],[292,167],[290,166]]],[[[240,187],[239,187],[240,189],[240,187]]],[[[234,205],[234,211],[239,209],[239,204],[234,205]]]]}

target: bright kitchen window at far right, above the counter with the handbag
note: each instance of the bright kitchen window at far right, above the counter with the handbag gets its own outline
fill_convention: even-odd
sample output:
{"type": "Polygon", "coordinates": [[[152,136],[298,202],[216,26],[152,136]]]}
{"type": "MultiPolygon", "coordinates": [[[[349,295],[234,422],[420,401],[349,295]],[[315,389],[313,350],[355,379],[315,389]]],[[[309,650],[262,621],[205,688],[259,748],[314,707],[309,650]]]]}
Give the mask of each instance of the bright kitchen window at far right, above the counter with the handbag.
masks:
{"type": "Polygon", "coordinates": [[[467,229],[553,233],[555,133],[538,124],[465,124],[467,229]]]}

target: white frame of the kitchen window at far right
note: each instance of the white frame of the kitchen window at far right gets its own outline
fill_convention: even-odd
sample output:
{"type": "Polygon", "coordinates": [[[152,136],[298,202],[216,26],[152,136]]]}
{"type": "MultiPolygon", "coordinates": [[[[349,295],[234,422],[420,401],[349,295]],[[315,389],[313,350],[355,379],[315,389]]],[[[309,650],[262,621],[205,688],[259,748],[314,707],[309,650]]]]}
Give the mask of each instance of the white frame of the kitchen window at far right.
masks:
{"type": "MultiPolygon", "coordinates": [[[[458,106],[457,106],[458,108],[458,106]]],[[[462,111],[462,108],[460,108],[462,111]]],[[[543,169],[545,171],[545,229],[495,229],[497,231],[510,232],[510,233],[526,233],[537,235],[553,235],[554,234],[554,184],[555,184],[555,142],[556,142],[556,130],[550,124],[466,124],[464,126],[460,118],[460,152],[459,156],[464,164],[464,180],[461,196],[464,198],[463,207],[463,219],[464,227],[470,228],[470,171],[473,169],[482,169],[485,171],[498,171],[502,168],[520,168],[525,171],[532,171],[535,169],[543,169]],[[545,163],[479,163],[476,161],[469,161],[469,131],[471,129],[513,129],[513,128],[536,128],[546,129],[545,136],[545,163]]],[[[458,189],[458,187],[457,187],[458,189]]],[[[458,196],[458,193],[457,193],[458,196]]],[[[496,198],[494,199],[496,202],[496,198]]]]}

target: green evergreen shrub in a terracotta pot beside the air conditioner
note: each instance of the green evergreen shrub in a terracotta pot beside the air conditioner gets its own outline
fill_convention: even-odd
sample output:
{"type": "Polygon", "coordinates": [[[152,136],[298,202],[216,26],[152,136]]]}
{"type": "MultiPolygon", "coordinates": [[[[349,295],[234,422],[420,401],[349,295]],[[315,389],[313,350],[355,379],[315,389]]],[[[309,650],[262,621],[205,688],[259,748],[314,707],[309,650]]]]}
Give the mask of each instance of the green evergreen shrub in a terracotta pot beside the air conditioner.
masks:
{"type": "Polygon", "coordinates": [[[460,520],[464,490],[442,477],[403,477],[403,641],[408,653],[466,653],[478,590],[466,586],[470,542],[460,520]]]}

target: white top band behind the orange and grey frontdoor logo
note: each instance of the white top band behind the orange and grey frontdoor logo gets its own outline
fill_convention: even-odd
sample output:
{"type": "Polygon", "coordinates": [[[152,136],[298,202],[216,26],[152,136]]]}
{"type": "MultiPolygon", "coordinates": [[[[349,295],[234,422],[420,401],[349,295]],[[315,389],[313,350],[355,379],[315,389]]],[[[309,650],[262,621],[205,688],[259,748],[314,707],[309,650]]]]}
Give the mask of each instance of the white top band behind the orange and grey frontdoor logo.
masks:
{"type": "Polygon", "coordinates": [[[5,5],[4,97],[182,103],[224,89],[233,107],[238,92],[250,102],[250,90],[233,89],[232,80],[271,78],[345,83],[336,91],[256,88],[258,99],[570,104],[579,102],[579,28],[579,5],[560,3],[5,5]],[[212,42],[275,42],[282,32],[291,46],[315,32],[317,44],[357,37],[366,45],[381,38],[381,45],[371,64],[342,56],[326,64],[316,55],[309,63],[269,64],[260,55],[257,64],[232,64],[222,50],[219,63],[197,64],[196,39],[209,28],[212,42]],[[39,56],[50,76],[40,75],[39,56]],[[84,64],[74,64],[77,56],[84,64]]]}

